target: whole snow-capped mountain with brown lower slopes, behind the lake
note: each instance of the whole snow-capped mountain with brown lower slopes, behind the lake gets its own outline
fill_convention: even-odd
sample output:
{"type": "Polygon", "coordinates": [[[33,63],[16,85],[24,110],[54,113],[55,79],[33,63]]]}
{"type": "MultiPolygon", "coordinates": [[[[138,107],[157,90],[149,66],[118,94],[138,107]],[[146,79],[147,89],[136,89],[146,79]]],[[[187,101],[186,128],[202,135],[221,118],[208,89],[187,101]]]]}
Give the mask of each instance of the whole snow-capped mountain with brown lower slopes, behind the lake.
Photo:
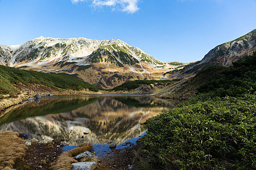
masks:
{"type": "Polygon", "coordinates": [[[71,74],[103,88],[112,88],[128,80],[159,80],[169,68],[183,65],[163,63],[119,39],[99,41],[42,36],[20,45],[0,45],[0,64],[71,74]]]}

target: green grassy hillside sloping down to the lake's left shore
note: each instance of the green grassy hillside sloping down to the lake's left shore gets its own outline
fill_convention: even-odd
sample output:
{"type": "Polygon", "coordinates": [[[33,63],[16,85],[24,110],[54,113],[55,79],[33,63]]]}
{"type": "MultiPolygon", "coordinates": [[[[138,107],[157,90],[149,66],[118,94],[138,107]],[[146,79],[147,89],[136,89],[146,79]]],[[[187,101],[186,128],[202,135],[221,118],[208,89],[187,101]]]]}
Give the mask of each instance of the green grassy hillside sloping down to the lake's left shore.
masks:
{"type": "Polygon", "coordinates": [[[44,85],[53,89],[89,89],[98,91],[98,88],[94,85],[71,76],[0,66],[1,95],[9,94],[15,96],[20,93],[20,90],[33,89],[33,85],[44,85]]]}

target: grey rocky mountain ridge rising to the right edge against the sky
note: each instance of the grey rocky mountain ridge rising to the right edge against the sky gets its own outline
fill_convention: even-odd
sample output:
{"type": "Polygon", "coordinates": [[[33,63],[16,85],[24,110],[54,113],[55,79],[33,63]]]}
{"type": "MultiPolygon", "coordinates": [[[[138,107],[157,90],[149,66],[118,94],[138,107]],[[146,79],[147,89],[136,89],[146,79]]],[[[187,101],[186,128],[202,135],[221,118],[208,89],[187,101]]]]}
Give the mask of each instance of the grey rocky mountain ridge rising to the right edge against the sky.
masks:
{"type": "Polygon", "coordinates": [[[232,66],[232,63],[256,51],[256,29],[233,41],[218,45],[209,51],[202,60],[189,64],[184,68],[166,72],[169,78],[190,77],[205,67],[213,65],[232,66]]]}

